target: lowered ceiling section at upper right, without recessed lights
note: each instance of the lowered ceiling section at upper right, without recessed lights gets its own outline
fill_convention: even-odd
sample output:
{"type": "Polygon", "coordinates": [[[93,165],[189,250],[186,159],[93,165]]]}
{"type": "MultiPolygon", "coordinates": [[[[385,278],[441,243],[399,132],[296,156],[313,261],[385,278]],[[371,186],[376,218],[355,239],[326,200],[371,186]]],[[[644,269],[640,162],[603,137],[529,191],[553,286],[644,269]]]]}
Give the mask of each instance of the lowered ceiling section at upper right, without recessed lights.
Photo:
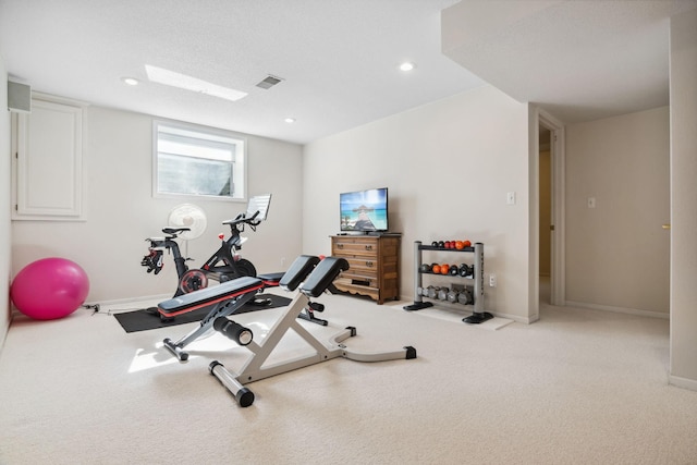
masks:
{"type": "Polygon", "coordinates": [[[466,0],[443,12],[443,52],[516,100],[589,121],[669,105],[670,16],[696,7],[466,0]]]}

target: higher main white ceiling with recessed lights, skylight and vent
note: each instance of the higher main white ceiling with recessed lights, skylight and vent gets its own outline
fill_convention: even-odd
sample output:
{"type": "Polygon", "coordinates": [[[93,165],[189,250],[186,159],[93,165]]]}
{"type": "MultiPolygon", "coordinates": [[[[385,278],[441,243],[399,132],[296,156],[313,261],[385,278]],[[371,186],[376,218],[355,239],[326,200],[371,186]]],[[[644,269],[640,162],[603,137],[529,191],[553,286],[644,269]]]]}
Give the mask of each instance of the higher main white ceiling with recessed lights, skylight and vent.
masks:
{"type": "Polygon", "coordinates": [[[0,54],[35,90],[306,143],[480,86],[440,51],[440,12],[453,3],[0,0],[0,54]],[[408,75],[404,60],[417,63],[408,75]],[[230,102],[152,84],[146,64],[249,95],[230,102]],[[268,74],[284,81],[256,87],[268,74]]]}

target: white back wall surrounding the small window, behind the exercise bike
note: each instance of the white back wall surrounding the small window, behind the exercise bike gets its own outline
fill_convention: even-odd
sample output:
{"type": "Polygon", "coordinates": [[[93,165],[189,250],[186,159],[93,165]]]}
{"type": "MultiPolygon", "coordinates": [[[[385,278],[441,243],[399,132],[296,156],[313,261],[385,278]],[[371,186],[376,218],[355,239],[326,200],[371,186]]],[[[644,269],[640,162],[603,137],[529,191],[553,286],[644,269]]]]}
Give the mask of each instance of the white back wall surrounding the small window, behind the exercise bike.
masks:
{"type": "MultiPolygon", "coordinates": [[[[200,266],[219,247],[218,233],[229,232],[221,222],[246,204],[152,198],[152,117],[98,107],[88,107],[86,114],[87,221],[13,221],[12,269],[16,273],[36,259],[61,256],[90,277],[88,302],[171,295],[176,286],[171,257],[166,256],[159,276],[146,273],[140,266],[145,238],[161,236],[170,209],[192,201],[208,217],[205,234],[188,245],[195,258],[188,265],[200,266]]],[[[247,231],[242,254],[258,272],[282,271],[281,259],[290,264],[301,253],[302,147],[241,136],[247,139],[248,194],[273,194],[268,221],[256,233],[247,231]]]]}

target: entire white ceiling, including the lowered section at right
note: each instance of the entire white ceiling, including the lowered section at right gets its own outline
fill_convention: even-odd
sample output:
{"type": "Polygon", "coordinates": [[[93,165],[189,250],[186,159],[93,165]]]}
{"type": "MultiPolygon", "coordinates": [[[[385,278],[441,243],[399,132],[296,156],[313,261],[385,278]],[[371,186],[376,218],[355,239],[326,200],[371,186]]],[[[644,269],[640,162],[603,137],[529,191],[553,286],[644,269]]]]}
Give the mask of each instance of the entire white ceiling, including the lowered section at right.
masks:
{"type": "Polygon", "coordinates": [[[305,144],[486,83],[567,123],[668,105],[668,17],[695,7],[0,0],[0,54],[34,90],[305,144]],[[411,73],[398,69],[406,60],[411,73]],[[228,101],[149,82],[146,65],[248,95],[228,101]],[[282,81],[257,87],[268,75],[282,81]]]}

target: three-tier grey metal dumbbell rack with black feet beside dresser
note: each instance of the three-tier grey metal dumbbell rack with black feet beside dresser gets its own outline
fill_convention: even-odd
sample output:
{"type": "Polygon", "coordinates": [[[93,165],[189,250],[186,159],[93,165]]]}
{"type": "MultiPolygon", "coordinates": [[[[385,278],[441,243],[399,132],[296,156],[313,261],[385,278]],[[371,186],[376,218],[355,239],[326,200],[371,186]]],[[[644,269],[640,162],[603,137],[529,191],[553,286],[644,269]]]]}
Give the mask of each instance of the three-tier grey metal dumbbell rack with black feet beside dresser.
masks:
{"type": "MultiPolygon", "coordinates": [[[[421,241],[415,241],[414,242],[414,304],[405,306],[404,307],[405,310],[415,311],[415,310],[420,310],[420,309],[433,306],[432,302],[424,302],[424,296],[417,293],[417,289],[419,287],[423,289],[423,285],[421,285],[423,276],[436,274],[436,273],[427,273],[421,271],[421,264],[423,264],[421,254],[424,250],[474,254],[475,259],[474,259],[473,277],[460,278],[466,281],[474,281],[474,287],[475,287],[474,304],[473,304],[474,311],[470,316],[463,318],[463,321],[466,323],[476,325],[493,318],[493,315],[484,310],[484,244],[480,242],[475,243],[474,247],[465,247],[462,249],[456,249],[456,248],[436,247],[432,245],[424,245],[421,241]]],[[[449,276],[449,274],[442,274],[442,276],[449,276]]],[[[426,297],[426,298],[429,298],[429,297],[426,297]]]]}

